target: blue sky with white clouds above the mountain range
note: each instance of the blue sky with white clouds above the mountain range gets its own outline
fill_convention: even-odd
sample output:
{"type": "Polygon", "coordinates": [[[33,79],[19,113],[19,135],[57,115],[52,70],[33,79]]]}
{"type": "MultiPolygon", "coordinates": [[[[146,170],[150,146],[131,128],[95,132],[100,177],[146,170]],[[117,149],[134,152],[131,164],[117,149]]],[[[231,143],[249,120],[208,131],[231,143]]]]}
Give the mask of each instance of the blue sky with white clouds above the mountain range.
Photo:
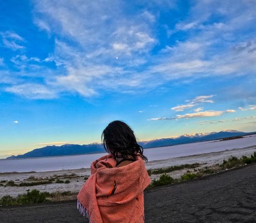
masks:
{"type": "Polygon", "coordinates": [[[100,142],[255,131],[254,1],[1,1],[0,157],[100,142]]]}

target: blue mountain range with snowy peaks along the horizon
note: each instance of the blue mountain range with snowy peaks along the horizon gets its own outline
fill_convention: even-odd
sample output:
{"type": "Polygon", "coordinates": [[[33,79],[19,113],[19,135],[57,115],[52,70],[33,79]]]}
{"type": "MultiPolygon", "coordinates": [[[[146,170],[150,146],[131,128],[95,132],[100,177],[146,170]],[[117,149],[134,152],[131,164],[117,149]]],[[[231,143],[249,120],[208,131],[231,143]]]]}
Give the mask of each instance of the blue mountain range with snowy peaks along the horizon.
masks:
{"type": "MultiPolygon", "coordinates": [[[[256,132],[255,132],[256,133],[256,132]]],[[[225,130],[219,133],[197,133],[197,134],[185,134],[179,137],[173,138],[161,138],[158,140],[151,140],[147,142],[138,142],[144,149],[166,147],[170,145],[202,142],[209,140],[220,140],[221,138],[228,138],[234,136],[244,136],[254,133],[244,133],[237,130],[225,130]]],[[[103,145],[100,143],[92,143],[87,145],[77,144],[65,144],[61,146],[48,145],[43,148],[34,149],[30,152],[26,152],[23,155],[9,156],[6,159],[17,159],[17,158],[32,158],[32,157],[48,157],[48,156],[67,156],[67,155],[80,155],[80,154],[92,154],[104,152],[103,145]]]]}

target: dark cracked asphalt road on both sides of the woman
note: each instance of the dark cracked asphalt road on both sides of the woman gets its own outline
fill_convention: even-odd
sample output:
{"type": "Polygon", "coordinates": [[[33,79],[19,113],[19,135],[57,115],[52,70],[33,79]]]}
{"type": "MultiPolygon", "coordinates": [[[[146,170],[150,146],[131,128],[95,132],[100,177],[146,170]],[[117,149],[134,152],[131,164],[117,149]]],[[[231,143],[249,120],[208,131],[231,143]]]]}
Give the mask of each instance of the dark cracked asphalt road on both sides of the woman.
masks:
{"type": "MultiPolygon", "coordinates": [[[[256,164],[145,192],[147,223],[256,222],[256,164]]],[[[1,207],[0,222],[88,222],[76,201],[1,207]]],[[[128,222],[127,222],[128,223],[128,222]]]]}

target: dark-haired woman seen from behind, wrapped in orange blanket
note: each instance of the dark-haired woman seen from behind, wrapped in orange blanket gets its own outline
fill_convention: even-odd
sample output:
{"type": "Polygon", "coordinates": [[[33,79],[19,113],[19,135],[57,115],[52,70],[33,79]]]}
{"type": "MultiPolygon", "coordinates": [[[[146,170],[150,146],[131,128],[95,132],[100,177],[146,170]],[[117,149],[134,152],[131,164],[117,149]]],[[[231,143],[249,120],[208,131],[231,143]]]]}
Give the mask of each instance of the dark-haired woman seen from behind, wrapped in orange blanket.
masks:
{"type": "Polygon", "coordinates": [[[144,222],[143,191],[150,184],[143,148],[132,129],[111,122],[102,133],[109,155],[91,164],[91,176],[77,196],[77,208],[91,223],[144,222]]]}

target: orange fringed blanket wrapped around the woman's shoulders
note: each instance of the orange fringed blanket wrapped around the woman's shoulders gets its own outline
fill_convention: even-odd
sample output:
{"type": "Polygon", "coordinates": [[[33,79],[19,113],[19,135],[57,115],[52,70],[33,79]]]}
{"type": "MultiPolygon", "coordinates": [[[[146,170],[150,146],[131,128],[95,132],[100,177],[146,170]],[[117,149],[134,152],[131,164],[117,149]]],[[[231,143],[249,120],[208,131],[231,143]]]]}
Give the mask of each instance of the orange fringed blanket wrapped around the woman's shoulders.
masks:
{"type": "Polygon", "coordinates": [[[91,223],[144,222],[143,191],[149,184],[142,158],[116,168],[113,156],[106,155],[91,164],[77,208],[91,223]]]}

